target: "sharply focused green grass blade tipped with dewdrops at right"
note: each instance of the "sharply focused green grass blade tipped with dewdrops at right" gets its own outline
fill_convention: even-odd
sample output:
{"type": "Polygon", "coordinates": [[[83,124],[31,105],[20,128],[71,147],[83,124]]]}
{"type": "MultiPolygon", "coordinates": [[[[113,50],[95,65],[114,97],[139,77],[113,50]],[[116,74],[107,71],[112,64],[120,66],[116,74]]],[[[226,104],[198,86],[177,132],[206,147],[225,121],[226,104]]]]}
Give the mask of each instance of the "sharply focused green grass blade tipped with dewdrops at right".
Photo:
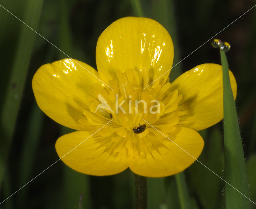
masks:
{"type": "Polygon", "coordinates": [[[244,162],[244,152],[236,114],[236,105],[228,74],[228,61],[220,49],[223,69],[223,107],[224,107],[224,148],[226,209],[250,209],[248,179],[244,162]],[[246,197],[247,198],[246,198],[246,197]]]}

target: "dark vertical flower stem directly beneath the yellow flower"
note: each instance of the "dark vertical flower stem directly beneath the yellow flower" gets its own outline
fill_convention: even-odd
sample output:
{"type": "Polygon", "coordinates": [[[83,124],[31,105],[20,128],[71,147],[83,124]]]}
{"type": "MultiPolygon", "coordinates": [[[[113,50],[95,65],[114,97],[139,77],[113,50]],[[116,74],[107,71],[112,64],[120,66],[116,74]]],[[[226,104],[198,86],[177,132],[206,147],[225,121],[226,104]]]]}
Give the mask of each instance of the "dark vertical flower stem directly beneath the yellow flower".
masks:
{"type": "Polygon", "coordinates": [[[147,178],[134,174],[136,209],[147,208],[147,178]]]}

